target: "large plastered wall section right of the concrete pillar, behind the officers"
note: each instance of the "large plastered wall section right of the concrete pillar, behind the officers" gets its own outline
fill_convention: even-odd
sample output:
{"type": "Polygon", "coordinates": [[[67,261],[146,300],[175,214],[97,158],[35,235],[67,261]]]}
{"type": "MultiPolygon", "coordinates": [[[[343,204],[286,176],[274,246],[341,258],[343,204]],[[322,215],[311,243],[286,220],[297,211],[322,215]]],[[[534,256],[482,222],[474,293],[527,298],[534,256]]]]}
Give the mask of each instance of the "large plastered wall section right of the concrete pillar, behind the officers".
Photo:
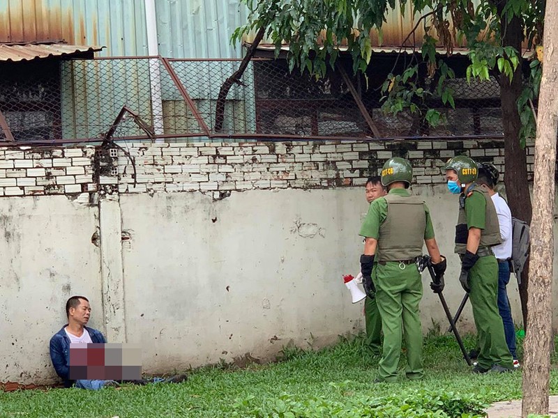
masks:
{"type": "MultiPolygon", "coordinates": [[[[453,255],[454,196],[425,196],[443,254],[446,299],[463,295],[453,255]]],[[[121,196],[128,341],[142,343],[147,370],[273,357],[289,342],[323,346],[363,326],[363,302],[352,305],[342,274],[356,275],[367,205],[359,187],[253,191],[221,201],[195,194],[121,196]],[[144,208],[144,210],[137,210],[144,208]],[[215,221],[215,222],[213,222],[215,221]],[[312,339],[310,340],[310,333],[312,339]]],[[[446,327],[424,274],[423,330],[446,327]]],[[[521,321],[517,285],[510,298],[521,321]]],[[[470,308],[460,323],[472,331],[470,308]]]]}

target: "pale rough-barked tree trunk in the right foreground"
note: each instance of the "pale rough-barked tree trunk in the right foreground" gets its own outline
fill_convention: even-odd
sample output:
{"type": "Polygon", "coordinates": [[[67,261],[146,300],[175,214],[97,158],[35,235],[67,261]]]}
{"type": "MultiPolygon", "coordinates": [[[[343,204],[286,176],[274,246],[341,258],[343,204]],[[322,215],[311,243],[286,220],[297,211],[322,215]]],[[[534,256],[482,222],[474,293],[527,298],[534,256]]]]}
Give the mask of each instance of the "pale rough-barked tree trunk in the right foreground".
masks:
{"type": "Polygon", "coordinates": [[[523,359],[522,417],[548,414],[550,348],[552,344],[552,258],[556,132],[558,129],[558,0],[547,0],[544,61],[535,141],[534,213],[529,266],[529,327],[523,359]]]}

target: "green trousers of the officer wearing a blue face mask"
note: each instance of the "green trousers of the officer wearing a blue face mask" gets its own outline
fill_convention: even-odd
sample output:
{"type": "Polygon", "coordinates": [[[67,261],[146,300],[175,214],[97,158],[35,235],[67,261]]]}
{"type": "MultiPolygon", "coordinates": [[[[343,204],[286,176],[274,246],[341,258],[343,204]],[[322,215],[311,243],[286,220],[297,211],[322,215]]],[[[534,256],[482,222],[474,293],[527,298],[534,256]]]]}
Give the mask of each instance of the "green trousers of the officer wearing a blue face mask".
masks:
{"type": "Polygon", "coordinates": [[[513,369],[513,358],[506,344],[504,325],[498,311],[498,263],[495,256],[478,258],[469,271],[469,297],[473,307],[478,346],[478,365],[493,364],[513,369]]]}

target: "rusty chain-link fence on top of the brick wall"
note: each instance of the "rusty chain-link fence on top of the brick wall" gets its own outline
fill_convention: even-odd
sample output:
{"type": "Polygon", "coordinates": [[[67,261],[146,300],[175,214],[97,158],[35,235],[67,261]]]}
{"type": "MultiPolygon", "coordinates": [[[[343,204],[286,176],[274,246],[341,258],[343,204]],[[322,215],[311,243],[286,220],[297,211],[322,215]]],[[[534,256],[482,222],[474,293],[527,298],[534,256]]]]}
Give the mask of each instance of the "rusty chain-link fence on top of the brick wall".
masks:
{"type": "Polygon", "coordinates": [[[432,128],[405,111],[385,114],[385,77],[355,76],[342,62],[315,79],[282,59],[254,59],[219,116],[220,91],[239,65],[158,57],[0,63],[0,140],[100,141],[111,128],[122,139],[502,135],[494,79],[448,82],[455,109],[432,95],[428,107],[442,114],[432,128]]]}

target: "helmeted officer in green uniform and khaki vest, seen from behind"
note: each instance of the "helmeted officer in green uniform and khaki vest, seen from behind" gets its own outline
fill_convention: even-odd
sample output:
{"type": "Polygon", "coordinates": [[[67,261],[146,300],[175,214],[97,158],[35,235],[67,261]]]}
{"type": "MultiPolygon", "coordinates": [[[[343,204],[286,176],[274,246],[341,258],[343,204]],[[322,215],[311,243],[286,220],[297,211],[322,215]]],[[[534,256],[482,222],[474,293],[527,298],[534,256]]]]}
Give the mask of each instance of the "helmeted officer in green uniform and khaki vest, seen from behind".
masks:
{"type": "Polygon", "coordinates": [[[384,164],[382,185],[388,187],[389,193],[370,204],[360,232],[365,238],[361,256],[363,285],[367,294],[375,293],[384,331],[376,382],[397,379],[402,337],[407,347],[407,378],[423,378],[423,335],[418,309],[423,285],[416,266],[423,242],[435,274],[441,277],[446,269],[434,238],[430,211],[422,199],[407,190],[412,176],[411,164],[403,158],[391,158],[384,164]]]}

